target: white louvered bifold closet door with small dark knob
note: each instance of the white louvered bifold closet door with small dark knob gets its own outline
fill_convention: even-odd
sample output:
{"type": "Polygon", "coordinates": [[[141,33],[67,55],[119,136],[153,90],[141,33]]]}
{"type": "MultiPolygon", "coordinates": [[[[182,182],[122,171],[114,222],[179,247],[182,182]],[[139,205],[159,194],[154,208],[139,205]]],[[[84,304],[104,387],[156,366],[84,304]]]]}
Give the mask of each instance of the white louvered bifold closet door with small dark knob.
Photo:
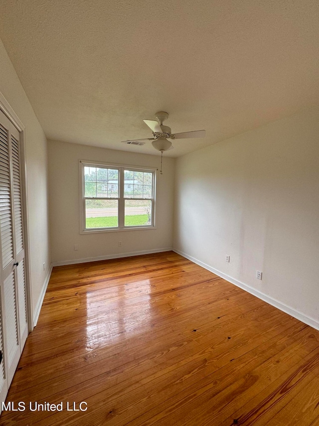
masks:
{"type": "Polygon", "coordinates": [[[28,333],[20,182],[19,132],[0,111],[1,364],[7,387],[28,333]]]}

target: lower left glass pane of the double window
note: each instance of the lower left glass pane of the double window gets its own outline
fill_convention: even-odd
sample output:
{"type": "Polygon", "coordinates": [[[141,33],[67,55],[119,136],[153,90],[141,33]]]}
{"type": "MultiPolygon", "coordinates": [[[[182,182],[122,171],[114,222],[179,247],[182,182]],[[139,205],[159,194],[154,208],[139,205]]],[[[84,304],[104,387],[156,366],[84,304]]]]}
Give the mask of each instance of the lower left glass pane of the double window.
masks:
{"type": "Polygon", "coordinates": [[[85,200],[86,228],[119,226],[118,200],[85,200]]]}

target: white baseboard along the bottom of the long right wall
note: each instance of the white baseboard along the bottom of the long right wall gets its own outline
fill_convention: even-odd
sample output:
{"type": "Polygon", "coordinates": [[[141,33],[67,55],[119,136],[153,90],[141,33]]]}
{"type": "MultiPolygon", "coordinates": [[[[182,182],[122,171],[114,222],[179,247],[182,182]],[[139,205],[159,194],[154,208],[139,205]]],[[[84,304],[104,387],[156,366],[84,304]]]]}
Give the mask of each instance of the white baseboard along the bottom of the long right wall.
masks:
{"type": "Polygon", "coordinates": [[[267,294],[264,294],[253,287],[250,287],[249,285],[242,283],[241,281],[236,280],[235,278],[230,277],[229,275],[224,274],[223,272],[218,271],[215,268],[212,268],[209,265],[206,265],[206,263],[201,262],[200,260],[189,256],[186,253],[183,253],[177,249],[172,249],[175,253],[180,254],[181,256],[185,257],[186,259],[191,260],[192,262],[196,263],[199,266],[202,266],[203,268],[207,269],[210,272],[213,272],[214,274],[218,275],[221,278],[224,278],[226,281],[229,281],[230,283],[234,284],[237,287],[240,287],[241,289],[247,291],[248,293],[258,297],[259,299],[263,300],[264,302],[269,303],[270,305],[274,306],[275,308],[280,309],[281,311],[285,312],[286,314],[291,315],[294,318],[297,318],[297,320],[302,321],[303,323],[309,325],[310,327],[313,327],[316,330],[319,330],[319,321],[315,318],[309,317],[308,315],[297,311],[296,309],[286,305],[283,302],[280,302],[277,299],[274,299],[267,294]]]}

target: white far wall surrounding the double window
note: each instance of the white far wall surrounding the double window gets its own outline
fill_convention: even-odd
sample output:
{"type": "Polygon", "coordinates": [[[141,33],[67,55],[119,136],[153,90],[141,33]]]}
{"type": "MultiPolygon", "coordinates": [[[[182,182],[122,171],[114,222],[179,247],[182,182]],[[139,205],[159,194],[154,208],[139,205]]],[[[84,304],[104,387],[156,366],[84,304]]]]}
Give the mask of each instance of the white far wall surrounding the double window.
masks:
{"type": "Polygon", "coordinates": [[[52,261],[94,260],[172,247],[174,159],[163,158],[157,175],[157,229],[80,234],[79,160],[160,166],[160,155],[145,155],[86,145],[49,141],[49,188],[52,261]],[[119,247],[122,241],[122,247],[119,247]],[[78,245],[78,251],[74,245],[78,245]]]}

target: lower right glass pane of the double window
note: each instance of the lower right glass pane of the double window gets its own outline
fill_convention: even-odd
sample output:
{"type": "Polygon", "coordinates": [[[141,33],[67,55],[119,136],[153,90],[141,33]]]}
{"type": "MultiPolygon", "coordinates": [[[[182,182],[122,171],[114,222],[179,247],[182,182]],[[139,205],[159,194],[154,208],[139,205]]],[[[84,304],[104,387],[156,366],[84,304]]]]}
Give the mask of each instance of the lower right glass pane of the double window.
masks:
{"type": "Polygon", "coordinates": [[[152,225],[152,201],[125,200],[125,226],[152,225]]]}

